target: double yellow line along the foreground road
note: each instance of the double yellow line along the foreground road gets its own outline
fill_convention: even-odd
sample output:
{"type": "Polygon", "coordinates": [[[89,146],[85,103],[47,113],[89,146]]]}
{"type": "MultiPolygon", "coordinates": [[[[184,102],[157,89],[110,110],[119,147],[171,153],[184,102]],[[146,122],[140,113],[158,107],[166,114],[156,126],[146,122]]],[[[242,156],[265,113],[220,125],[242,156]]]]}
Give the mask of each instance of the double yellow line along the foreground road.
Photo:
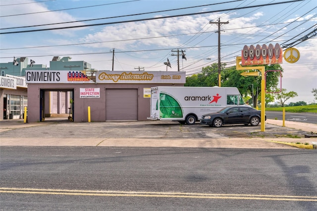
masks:
{"type": "Polygon", "coordinates": [[[207,194],[180,192],[136,192],[136,191],[87,191],[60,189],[24,189],[0,188],[0,193],[47,194],[71,196],[108,196],[108,197],[166,197],[166,198],[199,198],[199,199],[236,199],[236,200],[271,200],[271,201],[309,201],[317,202],[317,196],[284,196],[253,194],[207,194]]]}

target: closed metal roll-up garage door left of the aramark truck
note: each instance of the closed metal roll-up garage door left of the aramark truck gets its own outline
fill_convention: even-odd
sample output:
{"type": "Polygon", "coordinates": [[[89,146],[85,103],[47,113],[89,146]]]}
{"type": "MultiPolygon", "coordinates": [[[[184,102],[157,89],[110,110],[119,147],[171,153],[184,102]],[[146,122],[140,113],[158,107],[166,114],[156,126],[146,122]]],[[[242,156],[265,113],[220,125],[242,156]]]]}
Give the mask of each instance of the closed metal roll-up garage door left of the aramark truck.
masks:
{"type": "Polygon", "coordinates": [[[106,121],[138,120],[137,89],[106,89],[106,121]]]}

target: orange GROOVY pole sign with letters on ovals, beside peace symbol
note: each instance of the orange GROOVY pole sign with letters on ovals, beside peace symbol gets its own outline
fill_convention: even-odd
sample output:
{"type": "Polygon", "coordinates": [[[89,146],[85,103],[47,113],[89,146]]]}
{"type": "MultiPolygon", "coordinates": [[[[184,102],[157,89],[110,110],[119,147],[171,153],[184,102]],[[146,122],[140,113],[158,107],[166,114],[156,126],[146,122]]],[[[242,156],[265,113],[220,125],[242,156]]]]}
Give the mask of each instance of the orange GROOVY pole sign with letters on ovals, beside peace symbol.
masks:
{"type": "Polygon", "coordinates": [[[283,50],[279,44],[244,46],[241,65],[280,64],[283,63],[283,50]]]}

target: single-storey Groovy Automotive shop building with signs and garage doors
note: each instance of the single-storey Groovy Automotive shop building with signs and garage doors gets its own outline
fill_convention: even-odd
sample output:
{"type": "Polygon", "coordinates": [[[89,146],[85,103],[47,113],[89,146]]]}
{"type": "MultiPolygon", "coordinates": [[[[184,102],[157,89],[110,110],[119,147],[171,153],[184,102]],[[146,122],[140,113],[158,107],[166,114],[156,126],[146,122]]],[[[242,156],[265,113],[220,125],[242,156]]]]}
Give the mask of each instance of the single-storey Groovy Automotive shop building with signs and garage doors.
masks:
{"type": "Polygon", "coordinates": [[[96,71],[87,77],[82,71],[27,70],[28,122],[45,120],[46,92],[70,92],[65,104],[75,122],[147,120],[151,87],[184,86],[185,72],[96,71]]]}

